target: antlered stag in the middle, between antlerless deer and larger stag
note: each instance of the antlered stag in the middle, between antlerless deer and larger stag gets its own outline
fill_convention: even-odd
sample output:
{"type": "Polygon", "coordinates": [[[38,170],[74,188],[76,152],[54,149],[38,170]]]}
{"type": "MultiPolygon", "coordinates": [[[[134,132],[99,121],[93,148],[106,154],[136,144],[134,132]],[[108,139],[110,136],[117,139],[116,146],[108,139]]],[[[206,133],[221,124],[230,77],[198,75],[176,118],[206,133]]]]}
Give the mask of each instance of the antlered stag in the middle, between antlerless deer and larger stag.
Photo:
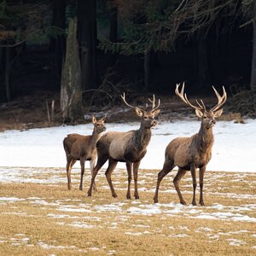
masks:
{"type": "Polygon", "coordinates": [[[157,106],[155,106],[154,96],[153,100],[148,99],[149,102],[152,103],[152,108],[147,110],[148,104],[146,104],[145,108],[131,106],[125,100],[125,93],[123,96],[121,96],[121,98],[123,102],[125,102],[126,106],[135,109],[137,116],[141,119],[140,127],[135,131],[108,131],[99,139],[98,143],[96,144],[98,158],[91,177],[90,188],[87,192],[88,196],[91,196],[91,190],[93,183],[95,182],[97,172],[108,160],[108,168],[105,172],[105,176],[108,180],[108,185],[111,189],[112,196],[117,197],[117,194],[113,189],[111,174],[118,162],[125,162],[128,174],[126,198],[131,199],[131,170],[133,170],[134,196],[135,199],[139,199],[137,191],[137,172],[141,160],[147,153],[148,143],[151,139],[151,128],[157,125],[157,121],[154,118],[160,113],[160,99],[158,100],[157,106]]]}

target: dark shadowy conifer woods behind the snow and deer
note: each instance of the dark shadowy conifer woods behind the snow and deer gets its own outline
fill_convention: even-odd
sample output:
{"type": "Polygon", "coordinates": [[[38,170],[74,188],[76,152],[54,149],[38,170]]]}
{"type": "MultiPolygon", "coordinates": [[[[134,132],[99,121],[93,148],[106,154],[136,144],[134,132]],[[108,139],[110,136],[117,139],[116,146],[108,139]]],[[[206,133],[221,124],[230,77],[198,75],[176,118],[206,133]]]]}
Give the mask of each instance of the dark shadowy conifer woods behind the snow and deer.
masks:
{"type": "Polygon", "coordinates": [[[69,122],[183,81],[194,95],[252,96],[255,19],[253,0],[0,1],[0,102],[49,91],[69,122]]]}

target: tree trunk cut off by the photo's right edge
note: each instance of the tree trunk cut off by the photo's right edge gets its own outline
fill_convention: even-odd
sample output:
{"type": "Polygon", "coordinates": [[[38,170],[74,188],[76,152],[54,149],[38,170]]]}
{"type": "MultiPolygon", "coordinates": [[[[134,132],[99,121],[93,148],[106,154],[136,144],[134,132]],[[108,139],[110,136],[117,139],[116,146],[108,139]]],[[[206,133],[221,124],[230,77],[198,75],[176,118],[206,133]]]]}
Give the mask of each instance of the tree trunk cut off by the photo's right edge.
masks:
{"type": "Polygon", "coordinates": [[[253,58],[251,71],[251,90],[256,91],[256,2],[253,3],[253,58]]]}

